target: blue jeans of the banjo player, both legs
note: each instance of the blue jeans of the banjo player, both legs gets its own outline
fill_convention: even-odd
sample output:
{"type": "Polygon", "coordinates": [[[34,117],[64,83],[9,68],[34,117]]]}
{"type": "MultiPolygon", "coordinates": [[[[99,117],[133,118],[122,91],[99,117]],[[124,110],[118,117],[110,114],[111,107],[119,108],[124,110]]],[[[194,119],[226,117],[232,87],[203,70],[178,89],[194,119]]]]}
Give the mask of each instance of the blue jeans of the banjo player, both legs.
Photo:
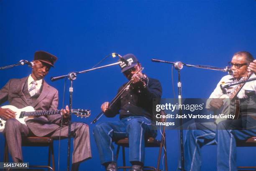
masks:
{"type": "MultiPolygon", "coordinates": [[[[218,125],[214,123],[190,124],[184,143],[184,169],[200,171],[202,146],[217,144],[217,170],[237,171],[236,141],[244,141],[255,136],[255,126],[256,120],[251,117],[225,120],[218,125]],[[246,121],[246,127],[243,126],[244,121],[246,121]]],[[[180,169],[180,164],[178,169],[180,169]]]]}

